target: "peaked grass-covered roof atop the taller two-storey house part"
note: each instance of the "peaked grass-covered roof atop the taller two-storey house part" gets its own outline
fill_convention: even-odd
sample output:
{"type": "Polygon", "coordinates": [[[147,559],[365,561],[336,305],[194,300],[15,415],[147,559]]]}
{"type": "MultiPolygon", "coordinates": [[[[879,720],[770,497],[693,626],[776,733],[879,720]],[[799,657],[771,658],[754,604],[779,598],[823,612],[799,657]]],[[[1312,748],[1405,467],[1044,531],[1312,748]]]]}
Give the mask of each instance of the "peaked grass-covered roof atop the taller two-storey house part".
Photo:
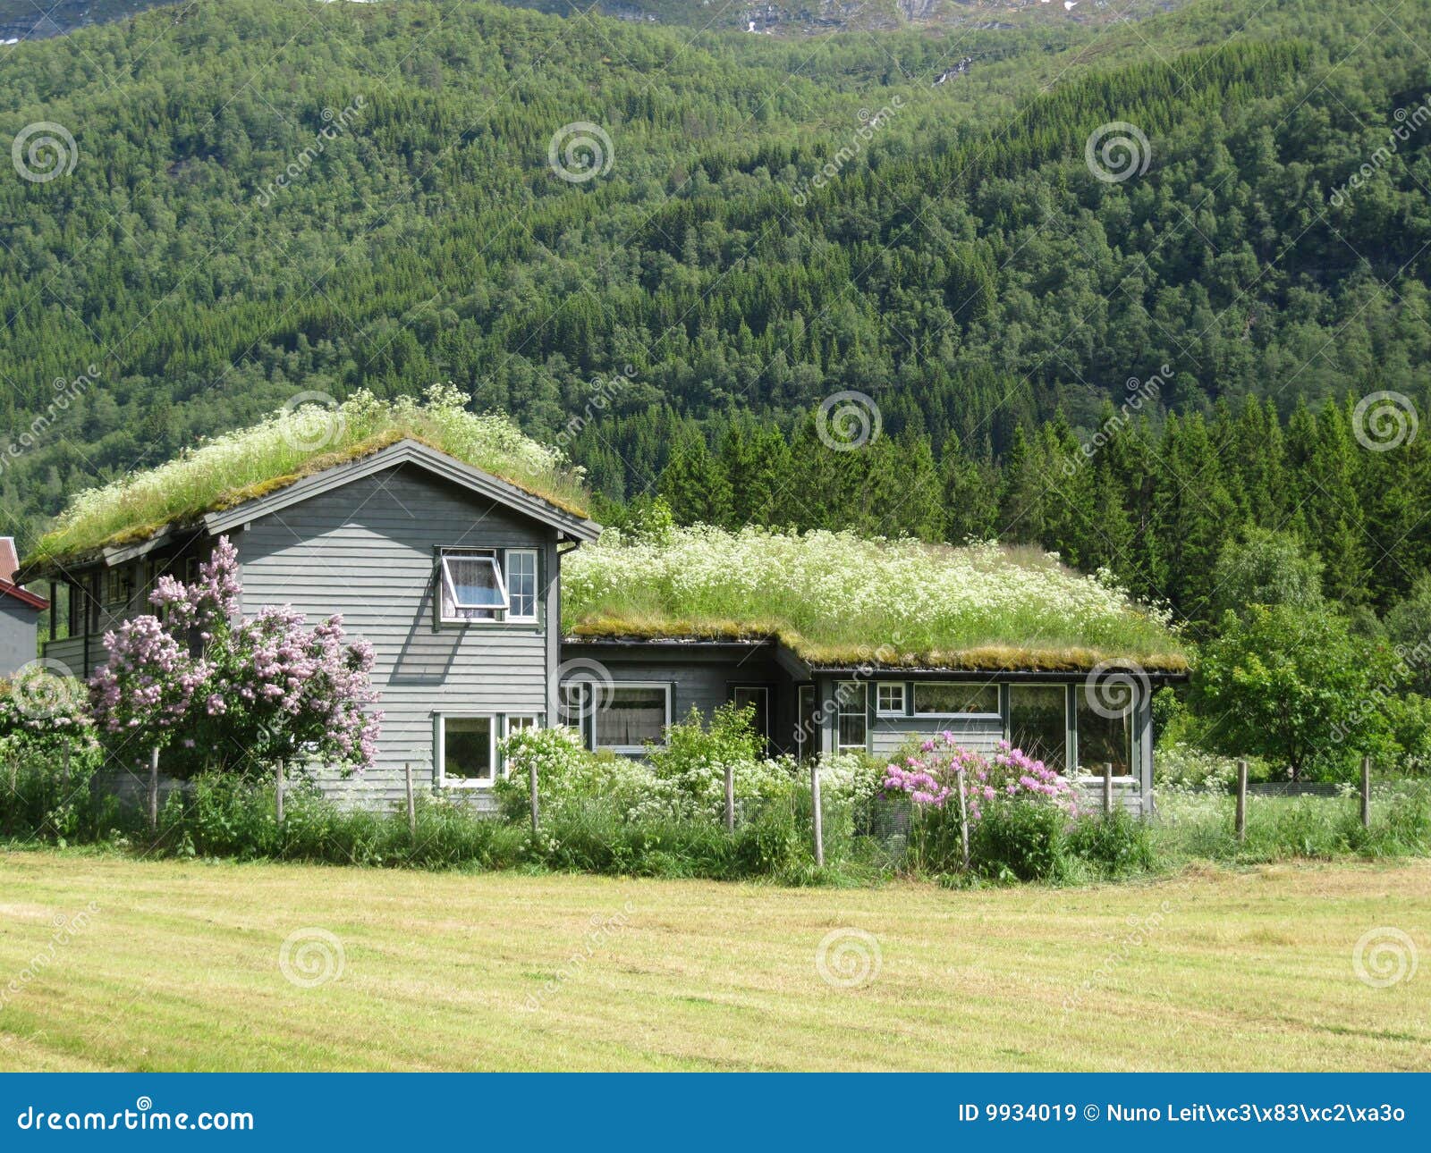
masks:
{"type": "Polygon", "coordinates": [[[166,465],[79,494],[26,558],[26,568],[79,561],[102,548],[145,541],[170,525],[196,524],[405,438],[585,515],[581,471],[562,452],[522,435],[505,416],[468,412],[467,401],[438,385],[422,402],[408,396],[379,401],[363,391],[336,408],[280,409],[166,465]]]}

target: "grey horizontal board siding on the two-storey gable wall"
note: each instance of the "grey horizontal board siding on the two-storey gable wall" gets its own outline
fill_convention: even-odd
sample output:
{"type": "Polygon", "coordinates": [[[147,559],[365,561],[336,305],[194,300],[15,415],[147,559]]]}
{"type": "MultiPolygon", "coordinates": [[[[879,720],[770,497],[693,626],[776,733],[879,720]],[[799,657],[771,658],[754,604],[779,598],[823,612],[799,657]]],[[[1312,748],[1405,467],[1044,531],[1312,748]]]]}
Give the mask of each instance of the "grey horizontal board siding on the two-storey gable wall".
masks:
{"type": "MultiPolygon", "coordinates": [[[[436,784],[434,715],[522,714],[550,708],[548,621],[557,619],[555,529],[472,496],[414,466],[323,492],[233,535],[243,565],[243,611],[293,605],[308,622],[342,614],[375,649],[384,712],[376,765],[335,795],[388,804],[404,795],[404,764],[419,790],[436,784]],[[435,627],[435,549],[538,548],[537,624],[435,627]]],[[[464,790],[467,793],[467,790],[464,790]]]]}

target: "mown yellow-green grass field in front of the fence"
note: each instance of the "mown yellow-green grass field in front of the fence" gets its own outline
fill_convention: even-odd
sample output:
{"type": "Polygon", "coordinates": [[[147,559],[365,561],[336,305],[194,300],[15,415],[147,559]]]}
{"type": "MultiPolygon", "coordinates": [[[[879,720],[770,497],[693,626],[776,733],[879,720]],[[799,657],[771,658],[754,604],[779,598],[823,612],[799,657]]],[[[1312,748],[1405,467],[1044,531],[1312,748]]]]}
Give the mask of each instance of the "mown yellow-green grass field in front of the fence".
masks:
{"type": "Polygon", "coordinates": [[[957,893],[13,853],[0,1066],[1431,1069],[1431,961],[1355,973],[1379,927],[1427,951],[1431,863],[957,893]],[[830,983],[837,930],[874,946],[830,983]]]}

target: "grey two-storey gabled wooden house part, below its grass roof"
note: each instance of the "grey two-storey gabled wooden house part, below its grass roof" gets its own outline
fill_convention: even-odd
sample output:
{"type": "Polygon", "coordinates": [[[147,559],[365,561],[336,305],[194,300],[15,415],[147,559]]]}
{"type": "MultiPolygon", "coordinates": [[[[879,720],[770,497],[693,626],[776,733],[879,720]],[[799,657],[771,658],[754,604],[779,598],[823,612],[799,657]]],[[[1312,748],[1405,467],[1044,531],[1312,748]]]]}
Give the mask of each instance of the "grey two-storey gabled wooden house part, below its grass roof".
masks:
{"type": "Polygon", "coordinates": [[[489,785],[502,737],[555,714],[561,555],[597,532],[405,439],[197,524],[27,575],[69,587],[69,635],[47,641],[44,655],[80,675],[104,662],[107,629],[150,611],[160,575],[193,579],[228,536],[245,611],[286,604],[309,624],[342,614],[349,634],[372,642],[378,762],[361,780],[325,784],[382,803],[402,795],[406,764],[419,784],[489,785]]]}

